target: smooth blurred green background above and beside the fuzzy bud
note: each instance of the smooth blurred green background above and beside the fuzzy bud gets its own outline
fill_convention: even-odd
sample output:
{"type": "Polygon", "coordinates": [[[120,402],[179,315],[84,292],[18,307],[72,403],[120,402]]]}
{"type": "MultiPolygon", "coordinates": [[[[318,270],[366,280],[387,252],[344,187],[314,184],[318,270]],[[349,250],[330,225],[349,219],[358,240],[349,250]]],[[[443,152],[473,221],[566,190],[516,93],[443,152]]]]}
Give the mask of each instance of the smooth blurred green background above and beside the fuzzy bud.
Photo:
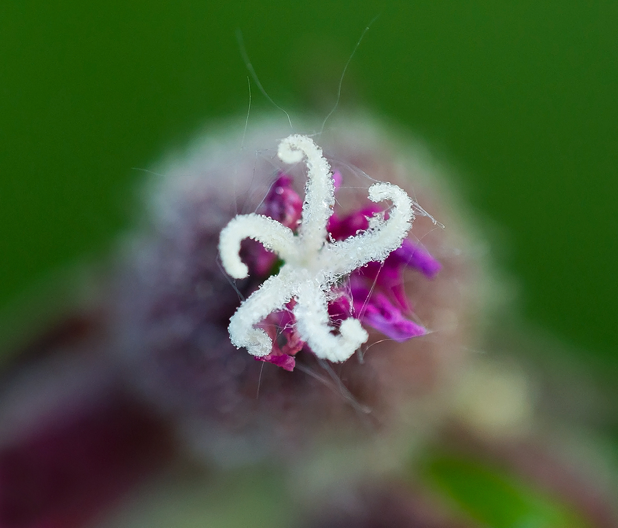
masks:
{"type": "MultiPolygon", "coordinates": [[[[618,366],[616,2],[3,0],[4,313],[106,254],[144,178],[131,168],[246,112],[237,28],[273,100],[322,111],[378,14],[343,104],[448,160],[531,325],[618,366]]],[[[253,108],[272,108],[255,85],[253,108]]]]}

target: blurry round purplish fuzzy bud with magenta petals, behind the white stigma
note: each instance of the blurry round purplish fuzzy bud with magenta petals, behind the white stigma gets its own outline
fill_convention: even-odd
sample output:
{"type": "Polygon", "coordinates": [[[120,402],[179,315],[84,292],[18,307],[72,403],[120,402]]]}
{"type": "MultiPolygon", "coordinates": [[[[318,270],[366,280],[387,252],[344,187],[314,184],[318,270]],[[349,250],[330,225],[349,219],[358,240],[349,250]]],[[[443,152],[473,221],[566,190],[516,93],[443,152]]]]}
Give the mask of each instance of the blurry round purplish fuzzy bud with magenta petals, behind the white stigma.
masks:
{"type": "MultiPolygon", "coordinates": [[[[383,205],[367,200],[374,181],[415,198],[403,244],[332,284],[335,332],[352,314],[376,330],[360,354],[333,363],[301,352],[306,339],[296,330],[295,299],[255,327],[276,345],[265,361],[230,342],[231,316],[285,262],[245,240],[240,257],[255,274],[231,280],[218,259],[220,232],[236,215],[255,213],[299,229],[306,172],[303,163],[275,155],[285,128],[262,122],[243,148],[236,133],[219,132],[168,163],[152,191],[150,227],[128,240],[116,283],[115,349],[146,398],[220,461],[286,457],[323,437],[361,440],[367,431],[387,439],[413,427],[422,435],[439,419],[437,394],[465,359],[478,277],[448,193],[413,151],[393,147],[373,122],[341,122],[334,130],[319,141],[337,185],[329,240],[345,241],[382,214],[383,205]]],[[[386,211],[376,221],[388,219],[386,211]]]]}

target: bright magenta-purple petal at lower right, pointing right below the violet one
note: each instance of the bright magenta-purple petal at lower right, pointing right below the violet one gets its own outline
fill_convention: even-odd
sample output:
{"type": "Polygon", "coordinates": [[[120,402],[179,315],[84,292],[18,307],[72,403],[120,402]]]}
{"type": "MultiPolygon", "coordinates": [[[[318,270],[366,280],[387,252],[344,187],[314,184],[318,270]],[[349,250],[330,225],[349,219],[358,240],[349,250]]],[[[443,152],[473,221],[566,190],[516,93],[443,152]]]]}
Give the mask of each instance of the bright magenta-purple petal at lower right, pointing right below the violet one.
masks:
{"type": "Polygon", "coordinates": [[[358,307],[356,307],[356,301],[354,304],[359,312],[363,310],[361,313],[363,323],[379,330],[398,343],[427,333],[421,325],[406,319],[382,293],[374,292],[367,303],[359,303],[358,307]]]}

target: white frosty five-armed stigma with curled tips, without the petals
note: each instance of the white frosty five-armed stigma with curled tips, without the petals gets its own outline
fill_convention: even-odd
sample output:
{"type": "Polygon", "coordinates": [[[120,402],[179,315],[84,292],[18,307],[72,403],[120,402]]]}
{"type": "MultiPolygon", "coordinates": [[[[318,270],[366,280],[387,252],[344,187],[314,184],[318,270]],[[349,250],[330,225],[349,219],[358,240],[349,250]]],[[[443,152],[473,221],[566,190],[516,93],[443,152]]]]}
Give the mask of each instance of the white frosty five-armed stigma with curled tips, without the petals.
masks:
{"type": "Polygon", "coordinates": [[[255,328],[275,310],[295,299],[297,330],[319,358],[339,362],[350,358],[367,341],[358,319],[341,323],[339,333],[328,315],[332,286],[367,262],[380,261],[401,246],[414,219],[412,200],[396,185],[375,183],[369,199],[390,200],[389,219],[371,218],[369,229],[339,242],[328,242],[326,225],[334,205],[334,182],[322,150],[308,136],[291,135],[279,144],[279,158],[285,163],[305,159],[308,179],[298,236],[279,222],[258,214],[239,215],[222,229],[219,253],[225,271],[232,277],[247,277],[247,266],[238,251],[244,238],[258,240],[284,260],[279,274],[267,279],[236,310],[230,319],[229,336],[236,347],[254,356],[267,356],[273,343],[266,332],[255,328]]]}

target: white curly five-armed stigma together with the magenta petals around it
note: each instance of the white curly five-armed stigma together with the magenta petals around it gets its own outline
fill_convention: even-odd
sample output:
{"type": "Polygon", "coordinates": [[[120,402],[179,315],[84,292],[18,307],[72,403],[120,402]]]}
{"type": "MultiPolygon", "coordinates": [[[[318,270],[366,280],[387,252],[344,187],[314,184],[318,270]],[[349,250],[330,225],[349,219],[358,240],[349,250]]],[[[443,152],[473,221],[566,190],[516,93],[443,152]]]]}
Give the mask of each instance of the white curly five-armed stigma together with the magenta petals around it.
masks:
{"type": "Polygon", "coordinates": [[[377,204],[339,218],[332,207],[334,192],[341,187],[341,173],[330,172],[321,150],[306,136],[290,136],[281,145],[279,157],[284,161],[299,161],[297,152],[306,155],[309,166],[307,196],[302,205],[290,176],[279,174],[260,205],[260,214],[237,216],[222,230],[219,251],[224,268],[233,277],[243,278],[249,272],[266,276],[277,262],[276,253],[283,262],[279,274],[275,275],[277,278],[268,277],[260,290],[244,301],[232,316],[229,326],[232,343],[247,347],[258,360],[292,371],[295,367],[293,356],[305,345],[319,358],[335,362],[349,358],[367,341],[368,334],[361,323],[398,342],[426,334],[425,328],[404,316],[404,312],[411,312],[411,307],[405,296],[402,273],[404,268],[410,267],[433,278],[440,264],[405,238],[413,219],[410,198],[390,184],[377,184],[382,187],[373,185],[369,189],[369,198],[374,201],[391,192],[393,203],[396,203],[391,215],[400,214],[397,207],[406,208],[401,218],[396,219],[398,226],[392,225],[391,216],[383,213],[377,204]],[[372,194],[378,188],[383,194],[372,194]],[[303,222],[305,215],[308,218],[319,216],[321,224],[307,227],[307,222],[303,222]],[[285,229],[281,229],[281,225],[285,229]],[[391,228],[398,228],[394,242],[391,228]],[[390,237],[386,256],[385,249],[380,246],[384,233],[390,237]],[[242,251],[240,242],[245,237],[250,240],[244,244],[249,245],[242,251]],[[310,237],[313,239],[307,241],[310,237]],[[267,251],[258,241],[275,252],[267,251]],[[306,245],[308,249],[304,251],[306,245]],[[336,261],[341,260],[343,251],[359,249],[363,249],[362,256],[356,255],[356,260],[349,262],[347,267],[337,266],[336,261]],[[249,266],[238,260],[239,254],[249,266]],[[323,269],[315,270],[316,263],[323,269]],[[314,281],[318,288],[311,287],[310,296],[299,303],[301,282],[314,281]],[[275,290],[279,297],[273,298],[275,290]],[[265,304],[268,301],[264,299],[271,304],[265,304]],[[319,307],[317,317],[314,307],[319,307]],[[298,321],[299,314],[314,318],[313,325],[298,321]],[[258,328],[253,328],[254,325],[258,328]],[[333,335],[335,330],[339,336],[333,335]]]}

